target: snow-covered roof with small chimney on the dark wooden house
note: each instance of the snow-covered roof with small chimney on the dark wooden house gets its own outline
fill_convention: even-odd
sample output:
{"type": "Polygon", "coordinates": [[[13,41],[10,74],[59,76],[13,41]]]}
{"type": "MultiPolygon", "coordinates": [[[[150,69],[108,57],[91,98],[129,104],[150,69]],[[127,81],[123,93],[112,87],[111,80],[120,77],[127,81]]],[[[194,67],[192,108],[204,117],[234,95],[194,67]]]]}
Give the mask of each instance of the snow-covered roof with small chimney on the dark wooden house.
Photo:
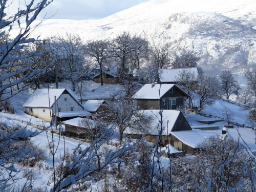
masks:
{"type": "MultiPolygon", "coordinates": [[[[173,87],[177,87],[176,84],[145,84],[136,94],[134,94],[134,99],[159,99],[162,97],[167,91],[172,89],[173,87]],[[160,90],[160,93],[159,93],[160,90]]],[[[184,92],[182,89],[180,89],[184,92]]],[[[186,92],[184,94],[188,95],[186,92]]]]}

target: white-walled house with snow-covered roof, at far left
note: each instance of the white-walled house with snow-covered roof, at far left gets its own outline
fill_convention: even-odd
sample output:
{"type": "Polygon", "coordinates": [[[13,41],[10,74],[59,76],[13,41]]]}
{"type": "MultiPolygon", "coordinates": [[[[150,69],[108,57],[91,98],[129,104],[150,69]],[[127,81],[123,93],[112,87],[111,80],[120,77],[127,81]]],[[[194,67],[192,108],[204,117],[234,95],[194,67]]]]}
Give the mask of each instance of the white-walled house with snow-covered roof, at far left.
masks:
{"type": "Polygon", "coordinates": [[[23,107],[25,113],[46,121],[51,121],[51,115],[56,112],[83,111],[83,106],[70,89],[37,89],[23,107]]]}

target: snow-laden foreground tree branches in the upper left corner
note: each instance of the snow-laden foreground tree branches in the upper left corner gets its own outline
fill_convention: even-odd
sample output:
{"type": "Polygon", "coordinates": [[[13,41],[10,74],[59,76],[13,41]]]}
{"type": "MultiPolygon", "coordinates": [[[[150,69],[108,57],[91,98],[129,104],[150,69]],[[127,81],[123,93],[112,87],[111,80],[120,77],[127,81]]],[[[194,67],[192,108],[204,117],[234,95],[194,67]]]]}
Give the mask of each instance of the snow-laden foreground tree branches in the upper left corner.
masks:
{"type": "Polygon", "coordinates": [[[34,1],[27,2],[26,9],[19,8],[17,12],[10,15],[7,12],[8,6],[12,3],[10,1],[0,1],[0,38],[4,38],[2,45],[0,45],[0,101],[6,100],[10,97],[10,88],[12,87],[12,93],[17,94],[25,89],[24,84],[20,84],[28,79],[31,79],[35,75],[45,72],[44,70],[34,69],[34,62],[29,59],[33,56],[40,56],[42,53],[29,52],[27,48],[31,42],[35,42],[39,39],[30,38],[30,33],[38,27],[41,22],[32,26],[35,23],[35,19],[40,11],[46,8],[52,1],[42,0],[38,4],[34,1]],[[22,26],[20,23],[24,22],[22,26]],[[18,30],[15,32],[13,26],[16,25],[18,30]],[[10,33],[12,37],[10,37],[10,33]],[[29,59],[29,62],[23,63],[23,59],[29,59]],[[19,87],[15,88],[16,85],[19,87]]]}

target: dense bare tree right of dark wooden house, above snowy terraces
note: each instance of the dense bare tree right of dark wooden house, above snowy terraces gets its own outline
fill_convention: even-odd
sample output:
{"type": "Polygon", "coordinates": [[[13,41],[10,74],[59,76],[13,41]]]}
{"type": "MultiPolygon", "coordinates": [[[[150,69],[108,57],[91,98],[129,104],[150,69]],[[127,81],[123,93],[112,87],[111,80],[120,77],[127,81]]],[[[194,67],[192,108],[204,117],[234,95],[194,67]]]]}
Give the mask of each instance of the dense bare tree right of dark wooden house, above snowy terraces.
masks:
{"type": "Polygon", "coordinates": [[[201,75],[198,78],[196,93],[199,95],[199,111],[205,105],[212,105],[219,98],[219,80],[216,77],[201,75]]]}

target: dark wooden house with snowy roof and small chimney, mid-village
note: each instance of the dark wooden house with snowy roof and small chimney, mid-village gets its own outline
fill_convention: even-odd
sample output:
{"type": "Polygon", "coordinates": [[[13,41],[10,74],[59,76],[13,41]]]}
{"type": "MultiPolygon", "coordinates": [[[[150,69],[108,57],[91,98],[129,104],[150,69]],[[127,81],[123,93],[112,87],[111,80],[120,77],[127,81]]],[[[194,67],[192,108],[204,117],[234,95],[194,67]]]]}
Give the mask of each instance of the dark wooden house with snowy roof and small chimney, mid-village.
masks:
{"type": "Polygon", "coordinates": [[[134,96],[140,109],[173,110],[189,95],[176,84],[145,84],[134,96]]]}

